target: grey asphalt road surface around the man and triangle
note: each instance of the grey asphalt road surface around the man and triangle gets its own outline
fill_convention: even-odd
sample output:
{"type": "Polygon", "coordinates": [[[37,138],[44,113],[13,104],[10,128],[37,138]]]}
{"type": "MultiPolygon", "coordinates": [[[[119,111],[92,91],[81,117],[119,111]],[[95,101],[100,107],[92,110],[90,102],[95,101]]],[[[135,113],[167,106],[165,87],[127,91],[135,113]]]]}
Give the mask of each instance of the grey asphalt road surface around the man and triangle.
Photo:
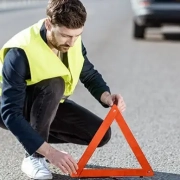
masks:
{"type": "MultiPolygon", "coordinates": [[[[121,93],[127,104],[123,114],[151,164],[152,180],[180,179],[180,51],[178,36],[163,39],[160,30],[148,30],[147,39],[132,38],[132,12],[128,0],[83,0],[88,20],[83,41],[88,57],[113,93],[121,93]]],[[[45,5],[0,13],[0,45],[19,30],[45,15],[45,5]]],[[[173,30],[173,29],[172,29],[173,30]]],[[[72,99],[104,118],[104,109],[79,84],[72,99]]],[[[113,123],[112,139],[95,151],[89,165],[139,167],[125,138],[113,123]]],[[[77,160],[86,147],[64,144],[77,160]]],[[[0,129],[0,180],[27,180],[21,172],[23,148],[13,135],[0,129]]],[[[54,179],[71,178],[51,166],[54,179]]],[[[102,178],[103,179],[103,178],[102,178]]],[[[124,180],[124,178],[122,178],[124,180]]],[[[126,178],[135,180],[136,178],[126,178]]],[[[138,179],[138,178],[137,178],[138,179]]]]}

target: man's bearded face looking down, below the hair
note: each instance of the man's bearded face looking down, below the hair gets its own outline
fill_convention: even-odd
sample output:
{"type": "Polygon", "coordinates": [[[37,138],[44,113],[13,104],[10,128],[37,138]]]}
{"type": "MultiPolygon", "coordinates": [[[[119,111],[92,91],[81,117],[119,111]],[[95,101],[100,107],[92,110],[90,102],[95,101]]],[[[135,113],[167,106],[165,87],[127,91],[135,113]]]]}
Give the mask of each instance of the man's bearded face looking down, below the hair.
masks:
{"type": "Polygon", "coordinates": [[[77,38],[83,32],[83,27],[79,29],[68,29],[65,26],[53,26],[48,20],[46,22],[46,29],[48,43],[63,53],[67,52],[74,45],[77,38]]]}

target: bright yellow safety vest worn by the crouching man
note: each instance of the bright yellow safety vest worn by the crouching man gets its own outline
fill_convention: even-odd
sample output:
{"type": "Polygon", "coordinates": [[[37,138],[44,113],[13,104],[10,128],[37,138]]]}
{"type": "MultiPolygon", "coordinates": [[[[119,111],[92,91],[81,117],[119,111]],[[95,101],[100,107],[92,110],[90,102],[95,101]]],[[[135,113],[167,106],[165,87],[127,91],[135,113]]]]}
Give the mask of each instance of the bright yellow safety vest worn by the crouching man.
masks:
{"type": "MultiPolygon", "coordinates": [[[[62,77],[65,81],[64,97],[68,97],[74,92],[84,63],[81,36],[68,50],[69,67],[67,68],[41,38],[40,29],[43,22],[42,19],[19,32],[2,47],[0,50],[0,81],[2,83],[1,71],[8,49],[18,47],[25,51],[29,62],[31,79],[26,80],[27,85],[53,77],[62,77]]],[[[0,89],[0,95],[1,93],[2,89],[0,89]]],[[[64,102],[64,98],[60,102],[64,102]]]]}

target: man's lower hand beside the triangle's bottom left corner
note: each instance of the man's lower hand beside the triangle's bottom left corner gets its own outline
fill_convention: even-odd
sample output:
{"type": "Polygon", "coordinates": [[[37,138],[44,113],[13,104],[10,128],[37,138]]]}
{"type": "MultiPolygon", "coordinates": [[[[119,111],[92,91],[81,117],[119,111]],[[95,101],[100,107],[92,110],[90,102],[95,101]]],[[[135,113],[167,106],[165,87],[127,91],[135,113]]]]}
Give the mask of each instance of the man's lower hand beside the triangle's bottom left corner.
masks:
{"type": "Polygon", "coordinates": [[[67,152],[58,151],[50,146],[48,143],[44,143],[37,151],[44,155],[50,163],[60,168],[65,174],[77,174],[78,165],[76,161],[67,152]]]}

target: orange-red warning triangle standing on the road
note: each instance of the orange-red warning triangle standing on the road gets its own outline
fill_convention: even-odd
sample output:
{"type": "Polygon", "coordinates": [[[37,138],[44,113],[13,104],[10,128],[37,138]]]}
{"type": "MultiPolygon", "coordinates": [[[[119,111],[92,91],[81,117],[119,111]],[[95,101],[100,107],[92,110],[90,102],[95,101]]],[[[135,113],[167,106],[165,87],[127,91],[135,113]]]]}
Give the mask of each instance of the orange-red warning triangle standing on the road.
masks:
{"type": "Polygon", "coordinates": [[[149,177],[153,176],[154,172],[148,163],[145,155],[143,154],[141,148],[139,147],[136,139],[134,138],[131,130],[129,129],[127,123],[125,122],[123,116],[121,115],[119,109],[116,105],[111,107],[108,115],[104,119],[103,123],[97,130],[90,144],[86,148],[84,154],[78,162],[77,174],[71,174],[74,178],[99,178],[99,177],[149,177]],[[91,169],[84,168],[100,143],[101,139],[107,132],[108,128],[111,126],[112,122],[116,120],[122,133],[124,134],[129,146],[131,147],[134,155],[136,156],[139,164],[142,168],[130,169],[130,168],[107,168],[107,169],[91,169]]]}

